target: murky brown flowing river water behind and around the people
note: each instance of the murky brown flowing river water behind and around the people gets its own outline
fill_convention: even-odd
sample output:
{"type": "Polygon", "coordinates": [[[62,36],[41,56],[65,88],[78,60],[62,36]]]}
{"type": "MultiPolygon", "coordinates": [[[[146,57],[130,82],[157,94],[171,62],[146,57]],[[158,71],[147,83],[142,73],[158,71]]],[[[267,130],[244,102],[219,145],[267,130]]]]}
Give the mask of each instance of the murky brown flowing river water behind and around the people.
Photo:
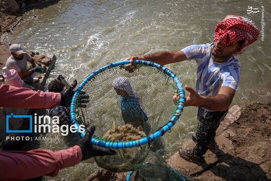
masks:
{"type": "MultiPolygon", "coordinates": [[[[247,16],[261,30],[261,6],[264,7],[264,41],[260,34],[255,43],[238,55],[241,79],[232,105],[243,105],[270,100],[269,1],[59,1],[25,13],[9,41],[20,43],[28,50],[56,54],[56,66],[49,81],[63,74],[70,82],[74,78],[81,82],[97,68],[129,56],[210,43],[215,25],[228,14],[247,16]],[[248,14],[248,6],[258,8],[259,12],[248,14]]],[[[183,84],[195,86],[194,61],[167,67],[183,84]]],[[[184,109],[172,132],[167,134],[166,156],[191,138],[197,126],[196,115],[196,107],[184,109]]],[[[42,148],[64,149],[69,145],[67,142],[77,140],[59,134],[48,137],[59,137],[59,140],[41,141],[42,148]]],[[[97,168],[90,159],[61,170],[57,177],[44,179],[84,180],[97,168]]]]}

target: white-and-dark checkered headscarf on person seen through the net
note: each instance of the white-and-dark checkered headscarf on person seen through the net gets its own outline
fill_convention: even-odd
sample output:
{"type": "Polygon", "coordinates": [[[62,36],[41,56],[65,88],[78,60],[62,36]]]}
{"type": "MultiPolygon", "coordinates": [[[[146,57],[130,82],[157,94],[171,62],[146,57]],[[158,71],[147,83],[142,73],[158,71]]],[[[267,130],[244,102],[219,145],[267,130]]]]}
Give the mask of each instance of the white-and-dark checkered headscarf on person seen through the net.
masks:
{"type": "Polygon", "coordinates": [[[127,77],[120,76],[115,78],[112,85],[116,89],[125,91],[128,94],[128,96],[134,97],[135,99],[139,99],[138,94],[133,91],[132,85],[130,84],[127,77]]]}

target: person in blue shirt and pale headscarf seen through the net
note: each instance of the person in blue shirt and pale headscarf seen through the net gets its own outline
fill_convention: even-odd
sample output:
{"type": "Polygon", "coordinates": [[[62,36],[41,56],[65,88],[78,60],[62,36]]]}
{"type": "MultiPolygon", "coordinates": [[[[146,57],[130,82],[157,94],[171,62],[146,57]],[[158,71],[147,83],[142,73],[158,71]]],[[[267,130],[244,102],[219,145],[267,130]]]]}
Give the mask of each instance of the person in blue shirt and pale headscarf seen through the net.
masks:
{"type": "Polygon", "coordinates": [[[148,121],[148,116],[142,110],[139,96],[133,91],[128,78],[117,77],[112,85],[120,96],[121,114],[125,124],[131,124],[133,127],[143,126],[148,121]]]}

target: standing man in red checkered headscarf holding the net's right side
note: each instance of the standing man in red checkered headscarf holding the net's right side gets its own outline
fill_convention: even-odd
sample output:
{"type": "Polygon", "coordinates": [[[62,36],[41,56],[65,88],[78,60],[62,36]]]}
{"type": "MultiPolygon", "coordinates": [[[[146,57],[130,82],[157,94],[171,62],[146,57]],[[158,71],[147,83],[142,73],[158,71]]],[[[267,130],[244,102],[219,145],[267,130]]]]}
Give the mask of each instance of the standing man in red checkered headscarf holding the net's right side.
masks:
{"type": "MultiPolygon", "coordinates": [[[[182,158],[203,161],[208,149],[216,146],[215,135],[221,120],[228,112],[240,80],[240,62],[234,56],[257,40],[258,28],[247,18],[228,15],[215,27],[213,43],[191,45],[179,51],[157,52],[144,57],[133,56],[126,70],[137,69],[134,60],[149,60],[166,65],[184,60],[196,60],[198,65],[196,90],[185,85],[189,96],[185,107],[198,107],[198,127],[192,139],[193,149],[180,149],[182,158]]],[[[174,100],[178,99],[175,95],[174,100]]]]}

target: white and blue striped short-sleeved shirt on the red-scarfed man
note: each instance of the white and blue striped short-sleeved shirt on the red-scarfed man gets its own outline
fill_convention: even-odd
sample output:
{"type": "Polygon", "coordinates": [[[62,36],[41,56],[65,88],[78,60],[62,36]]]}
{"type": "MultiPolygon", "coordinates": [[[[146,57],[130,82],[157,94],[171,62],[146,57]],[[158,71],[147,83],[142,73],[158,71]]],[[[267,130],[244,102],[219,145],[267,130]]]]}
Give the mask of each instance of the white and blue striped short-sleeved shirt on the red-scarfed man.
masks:
{"type": "Polygon", "coordinates": [[[207,43],[182,49],[188,60],[194,59],[198,64],[196,91],[202,96],[216,96],[221,86],[236,90],[240,80],[239,60],[232,56],[222,63],[215,62],[213,46],[214,43],[207,43]]]}

